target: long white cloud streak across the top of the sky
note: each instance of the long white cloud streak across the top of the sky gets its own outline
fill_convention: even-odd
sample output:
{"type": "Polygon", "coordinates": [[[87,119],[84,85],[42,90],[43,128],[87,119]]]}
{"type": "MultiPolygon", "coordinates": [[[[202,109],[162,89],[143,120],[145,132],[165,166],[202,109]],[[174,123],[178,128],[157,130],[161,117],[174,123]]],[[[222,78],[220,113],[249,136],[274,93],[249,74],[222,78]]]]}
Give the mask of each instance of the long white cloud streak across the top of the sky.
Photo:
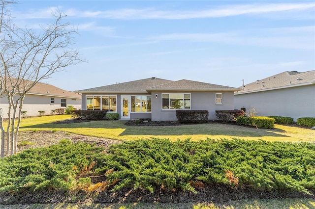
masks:
{"type": "MultiPolygon", "coordinates": [[[[68,16],[89,17],[89,18],[108,18],[108,19],[169,19],[183,20],[196,18],[218,18],[247,14],[264,14],[278,12],[299,12],[299,14],[290,14],[290,18],[300,16],[301,11],[310,10],[314,14],[315,3],[253,3],[253,4],[234,4],[224,5],[213,9],[205,10],[156,10],[154,8],[144,9],[116,9],[105,11],[79,11],[69,8],[63,13],[68,16]]],[[[62,7],[48,7],[44,9],[27,11],[27,13],[18,14],[21,19],[39,19],[51,18],[52,11],[60,10],[62,7]]],[[[314,15],[310,18],[314,18],[314,15]]]]}

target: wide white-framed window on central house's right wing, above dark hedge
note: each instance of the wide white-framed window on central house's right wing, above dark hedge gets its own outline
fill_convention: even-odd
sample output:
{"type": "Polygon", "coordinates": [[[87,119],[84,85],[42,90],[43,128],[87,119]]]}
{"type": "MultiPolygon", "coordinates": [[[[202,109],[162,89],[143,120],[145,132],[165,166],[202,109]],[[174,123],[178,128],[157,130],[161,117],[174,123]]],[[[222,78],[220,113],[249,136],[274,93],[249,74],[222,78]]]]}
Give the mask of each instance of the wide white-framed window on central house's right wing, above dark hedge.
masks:
{"type": "Polygon", "coordinates": [[[190,109],[190,94],[162,94],[162,109],[190,109]]]}

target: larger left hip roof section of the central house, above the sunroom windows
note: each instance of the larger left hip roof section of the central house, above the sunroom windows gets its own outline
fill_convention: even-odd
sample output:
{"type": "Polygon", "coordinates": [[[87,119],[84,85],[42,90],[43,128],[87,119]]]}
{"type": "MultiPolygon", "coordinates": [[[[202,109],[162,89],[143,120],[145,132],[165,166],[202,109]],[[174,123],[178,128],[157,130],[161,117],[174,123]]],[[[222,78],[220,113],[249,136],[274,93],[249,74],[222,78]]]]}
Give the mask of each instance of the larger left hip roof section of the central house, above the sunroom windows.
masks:
{"type": "Polygon", "coordinates": [[[124,83],[116,83],[107,86],[100,86],[95,88],[78,90],[78,93],[95,93],[95,92],[108,92],[108,93],[147,93],[146,89],[152,86],[161,85],[164,83],[172,82],[172,80],[165,80],[161,78],[145,78],[140,80],[134,80],[124,83]]]}

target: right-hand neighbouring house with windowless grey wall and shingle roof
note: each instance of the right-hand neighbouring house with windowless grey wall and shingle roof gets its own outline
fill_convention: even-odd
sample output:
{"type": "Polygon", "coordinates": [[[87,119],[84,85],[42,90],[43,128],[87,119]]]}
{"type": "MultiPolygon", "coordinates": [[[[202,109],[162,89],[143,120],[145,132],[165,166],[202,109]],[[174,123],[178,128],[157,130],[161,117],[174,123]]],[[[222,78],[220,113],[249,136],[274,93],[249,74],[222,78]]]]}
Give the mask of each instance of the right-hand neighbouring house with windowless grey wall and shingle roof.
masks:
{"type": "Polygon", "coordinates": [[[315,71],[291,71],[246,84],[234,94],[235,108],[260,116],[315,117],[315,71]]]}

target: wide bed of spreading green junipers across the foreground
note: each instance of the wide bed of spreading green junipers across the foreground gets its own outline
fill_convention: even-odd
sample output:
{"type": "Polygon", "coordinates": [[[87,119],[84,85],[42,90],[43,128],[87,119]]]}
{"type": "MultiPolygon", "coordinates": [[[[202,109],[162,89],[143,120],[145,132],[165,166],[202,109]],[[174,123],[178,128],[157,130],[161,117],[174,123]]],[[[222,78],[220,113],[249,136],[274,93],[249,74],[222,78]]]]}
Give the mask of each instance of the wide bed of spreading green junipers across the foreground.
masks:
{"type": "Polygon", "coordinates": [[[154,139],[120,143],[104,154],[105,147],[61,140],[8,161],[4,158],[0,162],[0,204],[224,203],[249,198],[314,198],[315,194],[314,145],[310,143],[154,139]],[[5,176],[11,166],[12,173],[5,176]],[[240,182],[235,181],[234,173],[226,179],[228,169],[240,182]],[[6,180],[16,172],[18,179],[6,180]],[[96,186],[104,182],[107,186],[96,186]]]}

